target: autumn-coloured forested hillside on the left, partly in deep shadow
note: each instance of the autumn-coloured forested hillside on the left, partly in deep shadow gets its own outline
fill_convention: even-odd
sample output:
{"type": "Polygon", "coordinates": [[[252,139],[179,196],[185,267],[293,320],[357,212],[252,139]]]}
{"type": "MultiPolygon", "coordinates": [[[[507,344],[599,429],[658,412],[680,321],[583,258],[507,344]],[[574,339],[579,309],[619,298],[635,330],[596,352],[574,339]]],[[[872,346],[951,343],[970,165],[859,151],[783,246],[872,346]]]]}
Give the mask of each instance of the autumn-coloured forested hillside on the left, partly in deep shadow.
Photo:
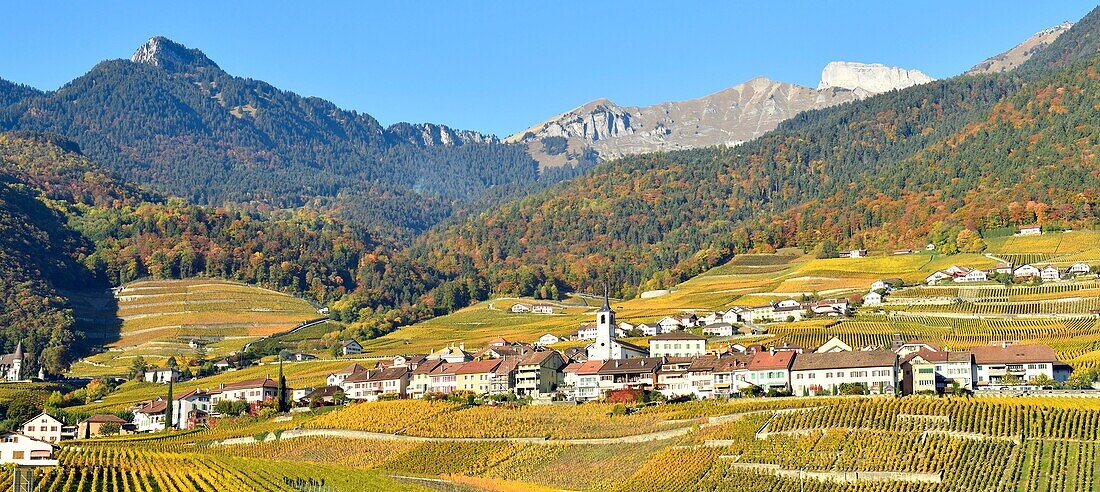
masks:
{"type": "Polygon", "coordinates": [[[235,278],[321,303],[354,293],[356,316],[381,330],[433,314],[421,296],[437,273],[316,211],[166,199],[38,134],[0,134],[0,349],[23,340],[36,362],[52,347],[51,371],[88,349],[59,291],[146,276],[235,278]]]}

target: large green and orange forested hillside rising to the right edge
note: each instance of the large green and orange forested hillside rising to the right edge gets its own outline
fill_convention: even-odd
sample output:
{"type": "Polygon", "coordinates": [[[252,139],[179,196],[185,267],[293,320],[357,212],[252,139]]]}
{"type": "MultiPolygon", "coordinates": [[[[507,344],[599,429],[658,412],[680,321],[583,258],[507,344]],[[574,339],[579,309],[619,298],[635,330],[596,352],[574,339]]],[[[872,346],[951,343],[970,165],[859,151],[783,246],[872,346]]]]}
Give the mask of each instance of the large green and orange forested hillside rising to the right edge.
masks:
{"type": "Polygon", "coordinates": [[[1034,220],[1096,220],[1093,11],[1018,74],[963,76],[810,111],[734,149],[627,157],[421,238],[496,292],[525,269],[630,295],[732,253],[788,245],[953,248],[1034,220]],[[1023,90],[1021,90],[1023,88],[1023,90]],[[994,108],[994,105],[996,108],[994,108]]]}

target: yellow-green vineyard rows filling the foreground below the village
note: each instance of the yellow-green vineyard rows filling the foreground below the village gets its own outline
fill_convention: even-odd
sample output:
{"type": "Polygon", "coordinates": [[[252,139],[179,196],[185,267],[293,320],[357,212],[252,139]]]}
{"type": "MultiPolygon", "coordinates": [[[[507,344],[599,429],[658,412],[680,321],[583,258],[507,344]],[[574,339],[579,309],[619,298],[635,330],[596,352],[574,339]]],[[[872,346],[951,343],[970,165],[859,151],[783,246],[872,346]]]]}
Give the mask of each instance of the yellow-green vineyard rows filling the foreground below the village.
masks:
{"type": "MultiPolygon", "coordinates": [[[[392,402],[377,406],[377,413],[360,412],[371,405],[301,416],[304,423],[284,428],[317,423],[397,431],[468,412],[427,402],[392,402]],[[417,405],[435,411],[417,417],[411,414],[424,409],[417,405]]],[[[544,430],[538,434],[581,437],[588,431],[574,425],[575,417],[596,416],[626,435],[649,431],[647,426],[635,428],[629,418],[615,423],[625,417],[607,417],[605,411],[581,405],[531,412],[562,416],[540,420],[544,430]]],[[[454,430],[425,430],[476,438],[504,429],[519,436],[528,434],[525,414],[484,407],[454,430]]],[[[639,416],[657,427],[664,420],[693,423],[693,430],[642,442],[314,436],[210,445],[210,439],[272,428],[254,424],[168,439],[75,444],[63,451],[62,467],[44,474],[38,490],[243,490],[242,482],[253,481],[264,490],[289,490],[282,486],[296,478],[323,478],[329,490],[414,486],[388,481],[388,475],[438,478],[487,490],[1077,492],[1100,483],[1100,398],[760,398],[660,405],[639,416]]]]}

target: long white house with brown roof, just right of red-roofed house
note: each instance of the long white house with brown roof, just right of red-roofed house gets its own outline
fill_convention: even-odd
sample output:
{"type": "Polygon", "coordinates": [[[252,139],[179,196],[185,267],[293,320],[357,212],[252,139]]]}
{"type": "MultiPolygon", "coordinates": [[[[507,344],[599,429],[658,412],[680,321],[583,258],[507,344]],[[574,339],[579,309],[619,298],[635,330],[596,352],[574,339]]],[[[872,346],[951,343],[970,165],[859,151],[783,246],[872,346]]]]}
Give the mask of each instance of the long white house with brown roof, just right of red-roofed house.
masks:
{"type": "Polygon", "coordinates": [[[897,362],[889,350],[801,353],[791,365],[791,387],[796,395],[821,395],[861,384],[871,394],[889,394],[898,384],[897,362]]]}

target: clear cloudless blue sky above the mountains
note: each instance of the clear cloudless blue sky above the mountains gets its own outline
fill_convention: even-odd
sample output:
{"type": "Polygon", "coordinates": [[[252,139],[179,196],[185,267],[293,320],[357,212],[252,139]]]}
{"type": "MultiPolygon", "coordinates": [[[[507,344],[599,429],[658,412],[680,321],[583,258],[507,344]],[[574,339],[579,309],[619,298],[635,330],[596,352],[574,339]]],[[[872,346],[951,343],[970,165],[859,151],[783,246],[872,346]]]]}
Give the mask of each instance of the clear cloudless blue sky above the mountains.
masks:
{"type": "Polygon", "coordinates": [[[0,77],[56,89],[165,35],[231,74],[367,112],[499,135],[606,97],[689,99],[829,61],[957,75],[1081,1],[53,2],[10,4],[0,77]]]}

